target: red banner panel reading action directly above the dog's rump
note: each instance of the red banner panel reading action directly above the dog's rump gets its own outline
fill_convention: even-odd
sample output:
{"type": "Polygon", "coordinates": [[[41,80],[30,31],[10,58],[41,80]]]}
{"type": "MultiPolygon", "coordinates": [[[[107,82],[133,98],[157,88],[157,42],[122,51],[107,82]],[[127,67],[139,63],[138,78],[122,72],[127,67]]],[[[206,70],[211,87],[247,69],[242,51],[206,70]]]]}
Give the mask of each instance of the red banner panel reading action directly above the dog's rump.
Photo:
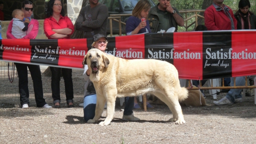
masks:
{"type": "Polygon", "coordinates": [[[203,33],[175,32],[173,63],[179,78],[203,79],[203,33]]]}

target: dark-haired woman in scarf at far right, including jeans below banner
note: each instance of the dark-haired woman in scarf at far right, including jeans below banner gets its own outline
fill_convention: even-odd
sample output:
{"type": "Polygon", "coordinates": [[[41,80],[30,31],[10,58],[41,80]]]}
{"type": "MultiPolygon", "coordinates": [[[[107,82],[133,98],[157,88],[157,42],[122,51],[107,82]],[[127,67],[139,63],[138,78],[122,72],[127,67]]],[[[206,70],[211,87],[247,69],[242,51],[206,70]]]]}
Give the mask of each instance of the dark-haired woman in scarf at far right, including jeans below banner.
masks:
{"type": "MultiPolygon", "coordinates": [[[[240,0],[238,4],[239,10],[235,13],[238,29],[256,29],[256,16],[249,11],[249,0],[240,0]]],[[[231,86],[234,86],[234,78],[231,79],[231,86]]],[[[250,80],[250,78],[249,78],[250,80]]],[[[236,86],[244,86],[245,77],[236,77],[236,86]]],[[[219,101],[213,101],[216,105],[226,105],[242,102],[243,89],[230,89],[227,95],[219,101]]]]}

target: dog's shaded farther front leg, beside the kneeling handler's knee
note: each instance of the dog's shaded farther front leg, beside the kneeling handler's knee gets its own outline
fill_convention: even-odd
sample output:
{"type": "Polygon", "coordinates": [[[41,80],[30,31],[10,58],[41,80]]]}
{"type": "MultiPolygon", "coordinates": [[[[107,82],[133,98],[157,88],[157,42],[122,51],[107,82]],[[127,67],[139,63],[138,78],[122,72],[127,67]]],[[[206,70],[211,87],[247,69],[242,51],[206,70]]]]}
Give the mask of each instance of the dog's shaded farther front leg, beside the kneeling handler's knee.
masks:
{"type": "Polygon", "coordinates": [[[92,124],[92,123],[95,123],[99,120],[99,118],[102,115],[105,102],[106,102],[106,98],[103,95],[97,95],[95,116],[94,116],[93,119],[88,120],[87,123],[92,124]]]}

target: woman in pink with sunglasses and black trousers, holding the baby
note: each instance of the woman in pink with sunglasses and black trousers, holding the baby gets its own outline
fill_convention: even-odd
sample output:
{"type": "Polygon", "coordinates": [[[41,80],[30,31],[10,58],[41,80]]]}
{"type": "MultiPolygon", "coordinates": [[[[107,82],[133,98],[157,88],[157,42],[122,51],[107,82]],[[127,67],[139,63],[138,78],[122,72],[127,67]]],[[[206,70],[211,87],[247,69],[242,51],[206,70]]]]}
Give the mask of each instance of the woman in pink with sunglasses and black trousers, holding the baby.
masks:
{"type": "MultiPolygon", "coordinates": [[[[24,12],[24,17],[30,17],[32,11],[34,10],[32,2],[29,0],[24,0],[22,2],[21,10],[24,12]]],[[[6,31],[6,37],[8,39],[16,39],[12,35],[12,23],[13,20],[9,23],[8,29],[6,31]]],[[[26,36],[22,37],[21,39],[35,39],[38,34],[38,27],[39,23],[37,20],[31,19],[29,25],[29,30],[26,31],[26,36]]],[[[29,107],[29,87],[28,87],[28,69],[30,71],[33,86],[34,86],[34,93],[35,93],[35,102],[37,107],[43,108],[51,108],[44,99],[43,94],[43,84],[41,78],[41,71],[40,66],[32,65],[32,64],[24,64],[24,63],[15,63],[17,68],[17,73],[19,76],[19,93],[20,93],[20,104],[22,108],[29,107]]]]}

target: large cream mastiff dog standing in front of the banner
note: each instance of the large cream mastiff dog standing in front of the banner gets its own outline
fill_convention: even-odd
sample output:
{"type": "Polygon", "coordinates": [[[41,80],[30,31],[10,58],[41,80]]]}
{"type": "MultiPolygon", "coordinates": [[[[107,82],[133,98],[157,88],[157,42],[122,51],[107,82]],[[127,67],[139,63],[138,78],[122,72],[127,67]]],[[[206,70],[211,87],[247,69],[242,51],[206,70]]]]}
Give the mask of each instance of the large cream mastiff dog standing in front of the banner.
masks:
{"type": "Polygon", "coordinates": [[[95,123],[102,115],[107,101],[107,118],[99,125],[109,125],[115,112],[116,97],[137,96],[145,93],[156,95],[172,111],[176,124],[185,120],[179,104],[188,97],[188,90],[180,87],[178,72],[171,63],[160,60],[126,60],[106,55],[99,49],[90,49],[83,65],[91,70],[90,80],[96,89],[95,116],[87,121],[95,123]]]}

